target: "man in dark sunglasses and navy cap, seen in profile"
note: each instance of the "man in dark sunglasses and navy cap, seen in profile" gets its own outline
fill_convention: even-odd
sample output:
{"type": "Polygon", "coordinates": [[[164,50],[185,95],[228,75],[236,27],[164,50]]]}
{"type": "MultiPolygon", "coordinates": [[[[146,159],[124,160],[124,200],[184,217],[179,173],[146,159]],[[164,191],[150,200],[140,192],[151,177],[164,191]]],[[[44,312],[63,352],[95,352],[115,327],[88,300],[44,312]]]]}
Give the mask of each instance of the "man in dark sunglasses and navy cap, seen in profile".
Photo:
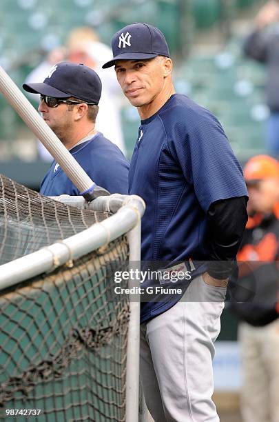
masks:
{"type": "MultiPolygon", "coordinates": [[[[45,123],[88,176],[110,193],[127,194],[129,164],[121,150],[95,128],[102,90],[98,74],[83,64],[61,61],[42,83],[24,83],[23,89],[41,94],[38,110],[45,123]]],[[[45,174],[40,193],[80,194],[55,161],[45,174]]]]}

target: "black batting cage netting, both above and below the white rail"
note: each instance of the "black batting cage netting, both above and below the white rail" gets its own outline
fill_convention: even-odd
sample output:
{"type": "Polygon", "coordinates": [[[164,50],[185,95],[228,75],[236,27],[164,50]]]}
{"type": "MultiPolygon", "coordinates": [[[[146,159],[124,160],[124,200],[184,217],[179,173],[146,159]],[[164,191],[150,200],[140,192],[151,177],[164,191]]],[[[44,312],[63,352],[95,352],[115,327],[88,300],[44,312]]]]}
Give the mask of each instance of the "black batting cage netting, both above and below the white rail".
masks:
{"type": "MultiPolygon", "coordinates": [[[[3,177],[1,183],[2,263],[107,217],[40,197],[3,177]]],[[[0,290],[1,420],[125,421],[129,301],[125,295],[108,299],[114,272],[127,270],[127,258],[121,237],[72,268],[0,290]],[[41,412],[8,416],[6,410],[14,409],[41,412]]]]}

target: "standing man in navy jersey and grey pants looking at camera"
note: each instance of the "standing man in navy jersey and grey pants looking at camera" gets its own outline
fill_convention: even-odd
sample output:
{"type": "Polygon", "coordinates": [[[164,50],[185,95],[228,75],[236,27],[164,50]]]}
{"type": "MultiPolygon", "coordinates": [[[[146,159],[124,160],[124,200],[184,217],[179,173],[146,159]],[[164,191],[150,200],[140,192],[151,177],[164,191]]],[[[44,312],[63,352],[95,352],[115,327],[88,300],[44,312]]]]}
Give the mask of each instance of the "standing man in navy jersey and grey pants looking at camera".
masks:
{"type": "Polygon", "coordinates": [[[103,68],[114,66],[141,117],[129,193],[147,205],[143,268],[158,264],[158,277],[152,271],[141,284],[145,400],[156,422],[217,422],[211,359],[247,221],[242,170],[216,117],[176,94],[158,28],[125,26],[114,34],[112,52],[103,68]]]}

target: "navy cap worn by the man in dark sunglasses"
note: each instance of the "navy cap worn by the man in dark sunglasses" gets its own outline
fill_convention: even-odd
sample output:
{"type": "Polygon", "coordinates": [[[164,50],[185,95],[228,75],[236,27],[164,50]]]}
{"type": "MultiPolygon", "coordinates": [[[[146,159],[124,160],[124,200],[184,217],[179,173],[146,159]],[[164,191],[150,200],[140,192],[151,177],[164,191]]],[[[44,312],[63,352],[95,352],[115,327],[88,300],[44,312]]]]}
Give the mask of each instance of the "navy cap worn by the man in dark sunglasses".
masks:
{"type": "Polygon", "coordinates": [[[98,104],[102,83],[93,69],[83,64],[60,61],[41,83],[23,83],[23,90],[47,97],[69,98],[98,104]]]}

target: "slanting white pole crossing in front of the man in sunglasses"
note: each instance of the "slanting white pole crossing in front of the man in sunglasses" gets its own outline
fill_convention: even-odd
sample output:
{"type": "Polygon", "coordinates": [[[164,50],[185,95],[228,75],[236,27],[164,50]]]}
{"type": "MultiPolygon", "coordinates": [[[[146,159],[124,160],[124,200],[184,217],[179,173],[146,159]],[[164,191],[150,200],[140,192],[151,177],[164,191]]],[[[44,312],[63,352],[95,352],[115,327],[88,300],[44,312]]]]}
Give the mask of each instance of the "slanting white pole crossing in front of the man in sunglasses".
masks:
{"type": "Polygon", "coordinates": [[[91,200],[101,194],[107,194],[106,190],[96,188],[94,181],[85,173],[83,168],[81,168],[81,165],[79,165],[63,143],[56,137],[56,134],[52,132],[1,66],[0,92],[2,92],[12,108],[16,110],[21,119],[28,125],[28,128],[30,128],[43,145],[45,145],[45,148],[52,154],[52,157],[59,163],[65,174],[67,174],[85,199],[91,200]]]}

